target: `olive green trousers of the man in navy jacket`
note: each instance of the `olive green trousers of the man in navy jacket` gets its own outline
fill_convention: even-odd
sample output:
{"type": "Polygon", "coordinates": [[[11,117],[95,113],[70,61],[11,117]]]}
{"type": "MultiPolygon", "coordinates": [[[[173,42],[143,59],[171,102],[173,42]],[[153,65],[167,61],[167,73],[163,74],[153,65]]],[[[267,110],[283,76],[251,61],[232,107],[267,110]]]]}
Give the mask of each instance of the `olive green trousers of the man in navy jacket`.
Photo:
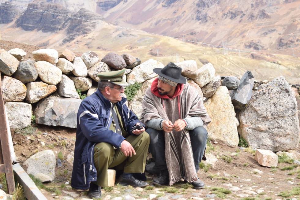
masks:
{"type": "MultiPolygon", "coordinates": [[[[129,135],[126,137],[136,154],[126,157],[120,149],[114,149],[109,143],[98,143],[94,148],[94,163],[97,170],[98,186],[108,186],[107,169],[115,167],[125,162],[124,172],[142,173],[145,170],[150,136],[147,132],[140,135],[129,135]]],[[[94,182],[95,183],[95,182],[94,182]]]]}

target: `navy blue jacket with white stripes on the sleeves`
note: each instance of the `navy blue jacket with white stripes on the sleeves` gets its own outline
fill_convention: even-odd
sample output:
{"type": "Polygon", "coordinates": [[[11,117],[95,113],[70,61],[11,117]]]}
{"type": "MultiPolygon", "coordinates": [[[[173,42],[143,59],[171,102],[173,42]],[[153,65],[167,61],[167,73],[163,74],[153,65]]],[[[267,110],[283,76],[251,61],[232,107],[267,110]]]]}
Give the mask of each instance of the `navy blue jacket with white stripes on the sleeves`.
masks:
{"type": "MultiPolygon", "coordinates": [[[[137,116],[126,106],[126,98],[117,102],[117,108],[124,122],[124,129],[130,129],[141,123],[137,116]]],[[[86,190],[92,181],[97,180],[94,165],[94,146],[100,142],[110,143],[118,148],[125,139],[122,135],[109,130],[112,122],[112,103],[97,91],[85,98],[77,113],[77,132],[74,150],[74,162],[71,185],[73,188],[86,190]]],[[[141,123],[142,124],[142,123],[141,123]]],[[[144,124],[142,124],[144,125],[144,124]]]]}

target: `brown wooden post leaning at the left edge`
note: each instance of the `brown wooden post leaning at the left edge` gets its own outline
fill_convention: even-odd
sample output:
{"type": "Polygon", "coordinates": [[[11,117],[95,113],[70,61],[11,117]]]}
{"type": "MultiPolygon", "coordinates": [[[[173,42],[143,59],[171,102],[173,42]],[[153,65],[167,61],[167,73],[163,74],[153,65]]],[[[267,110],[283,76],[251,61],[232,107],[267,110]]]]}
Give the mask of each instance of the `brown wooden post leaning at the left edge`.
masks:
{"type": "Polygon", "coordinates": [[[13,194],[13,192],[15,191],[15,182],[13,179],[13,165],[10,157],[7,124],[4,109],[5,108],[0,72],[0,173],[5,173],[8,193],[13,194]]]}

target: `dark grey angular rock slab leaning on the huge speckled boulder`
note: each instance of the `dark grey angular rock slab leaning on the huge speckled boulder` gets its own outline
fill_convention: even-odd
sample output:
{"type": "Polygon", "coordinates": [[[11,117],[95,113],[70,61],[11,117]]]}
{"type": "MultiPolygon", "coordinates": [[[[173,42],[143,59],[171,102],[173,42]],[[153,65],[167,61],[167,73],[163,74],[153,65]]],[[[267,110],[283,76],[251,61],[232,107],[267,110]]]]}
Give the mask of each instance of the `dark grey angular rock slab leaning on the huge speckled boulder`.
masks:
{"type": "Polygon", "coordinates": [[[251,72],[247,71],[241,78],[238,89],[230,93],[232,104],[235,109],[244,109],[252,96],[254,77],[251,72]]]}

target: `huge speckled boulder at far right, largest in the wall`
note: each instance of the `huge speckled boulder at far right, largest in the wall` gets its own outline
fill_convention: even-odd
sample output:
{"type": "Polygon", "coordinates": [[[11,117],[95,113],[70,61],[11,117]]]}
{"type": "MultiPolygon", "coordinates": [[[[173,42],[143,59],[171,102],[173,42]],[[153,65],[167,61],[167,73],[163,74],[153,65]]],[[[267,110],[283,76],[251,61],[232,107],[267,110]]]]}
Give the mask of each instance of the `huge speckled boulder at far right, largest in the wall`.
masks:
{"type": "Polygon", "coordinates": [[[240,135],[254,148],[277,152],[298,146],[297,101],[282,76],[258,87],[239,120],[240,135]]]}

